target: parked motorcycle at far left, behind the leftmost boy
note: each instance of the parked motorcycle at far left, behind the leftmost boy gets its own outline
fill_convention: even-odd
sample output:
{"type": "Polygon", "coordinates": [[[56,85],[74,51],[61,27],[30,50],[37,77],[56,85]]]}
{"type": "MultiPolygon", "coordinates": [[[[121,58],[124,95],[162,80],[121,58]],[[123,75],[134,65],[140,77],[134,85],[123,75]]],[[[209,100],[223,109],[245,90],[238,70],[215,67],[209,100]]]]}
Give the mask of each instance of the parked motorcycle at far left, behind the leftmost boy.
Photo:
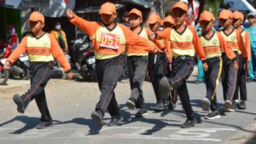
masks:
{"type": "Polygon", "coordinates": [[[20,79],[29,79],[29,59],[26,53],[21,54],[19,59],[13,63],[10,70],[4,70],[3,65],[12,51],[0,51],[0,84],[5,84],[10,76],[19,76],[20,79]]]}

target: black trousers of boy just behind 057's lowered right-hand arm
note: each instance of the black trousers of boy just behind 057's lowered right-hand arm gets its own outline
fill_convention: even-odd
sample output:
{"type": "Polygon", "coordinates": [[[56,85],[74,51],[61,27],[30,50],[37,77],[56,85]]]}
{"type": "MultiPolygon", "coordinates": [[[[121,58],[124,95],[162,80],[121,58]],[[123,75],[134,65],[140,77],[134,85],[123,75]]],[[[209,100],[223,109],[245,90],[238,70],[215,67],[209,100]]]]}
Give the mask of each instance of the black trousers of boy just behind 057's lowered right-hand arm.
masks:
{"type": "Polygon", "coordinates": [[[148,65],[148,56],[128,56],[127,66],[129,72],[131,98],[135,100],[136,108],[144,107],[143,92],[141,90],[148,65]]]}

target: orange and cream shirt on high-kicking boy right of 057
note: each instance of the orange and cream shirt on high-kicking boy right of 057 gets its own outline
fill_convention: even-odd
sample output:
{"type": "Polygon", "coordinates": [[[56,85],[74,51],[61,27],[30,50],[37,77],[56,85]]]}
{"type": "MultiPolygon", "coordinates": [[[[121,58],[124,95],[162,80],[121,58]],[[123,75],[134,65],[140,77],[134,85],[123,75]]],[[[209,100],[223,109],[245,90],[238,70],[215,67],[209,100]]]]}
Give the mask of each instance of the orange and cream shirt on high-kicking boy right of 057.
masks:
{"type": "Polygon", "coordinates": [[[170,47],[172,49],[173,56],[194,56],[196,51],[200,60],[204,61],[207,59],[193,26],[185,26],[182,33],[179,33],[179,31],[172,28],[166,28],[164,31],[157,31],[156,33],[157,39],[170,40],[170,47]]]}

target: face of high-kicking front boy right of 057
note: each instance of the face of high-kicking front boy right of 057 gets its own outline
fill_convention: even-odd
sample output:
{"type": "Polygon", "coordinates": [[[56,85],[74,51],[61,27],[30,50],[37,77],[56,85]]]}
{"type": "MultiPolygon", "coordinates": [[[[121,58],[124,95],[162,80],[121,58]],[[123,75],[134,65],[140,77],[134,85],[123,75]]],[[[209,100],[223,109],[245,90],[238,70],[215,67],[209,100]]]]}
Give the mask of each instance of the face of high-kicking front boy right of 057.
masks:
{"type": "Polygon", "coordinates": [[[172,12],[172,18],[175,22],[175,25],[177,25],[177,26],[184,24],[186,17],[187,17],[186,11],[184,11],[180,8],[175,8],[172,12]]]}

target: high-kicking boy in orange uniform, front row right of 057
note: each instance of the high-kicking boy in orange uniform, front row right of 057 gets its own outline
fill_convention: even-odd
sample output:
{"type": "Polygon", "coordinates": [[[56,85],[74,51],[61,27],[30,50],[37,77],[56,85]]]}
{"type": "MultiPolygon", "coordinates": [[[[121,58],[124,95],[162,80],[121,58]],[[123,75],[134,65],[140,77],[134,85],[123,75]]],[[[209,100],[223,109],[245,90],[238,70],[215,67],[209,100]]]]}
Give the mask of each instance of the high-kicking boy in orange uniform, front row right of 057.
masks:
{"type": "Polygon", "coordinates": [[[172,76],[163,77],[159,82],[159,92],[163,99],[168,97],[170,90],[176,89],[182,106],[186,111],[187,120],[181,125],[182,128],[189,128],[196,124],[195,114],[189,100],[186,79],[190,76],[194,68],[195,51],[200,60],[203,61],[203,67],[207,70],[207,59],[204,49],[200,44],[195,28],[184,24],[188,16],[188,4],[179,1],[172,7],[172,17],[175,27],[166,28],[164,31],[150,33],[150,38],[170,40],[172,49],[172,76]],[[194,51],[195,49],[195,51],[194,51]]]}

